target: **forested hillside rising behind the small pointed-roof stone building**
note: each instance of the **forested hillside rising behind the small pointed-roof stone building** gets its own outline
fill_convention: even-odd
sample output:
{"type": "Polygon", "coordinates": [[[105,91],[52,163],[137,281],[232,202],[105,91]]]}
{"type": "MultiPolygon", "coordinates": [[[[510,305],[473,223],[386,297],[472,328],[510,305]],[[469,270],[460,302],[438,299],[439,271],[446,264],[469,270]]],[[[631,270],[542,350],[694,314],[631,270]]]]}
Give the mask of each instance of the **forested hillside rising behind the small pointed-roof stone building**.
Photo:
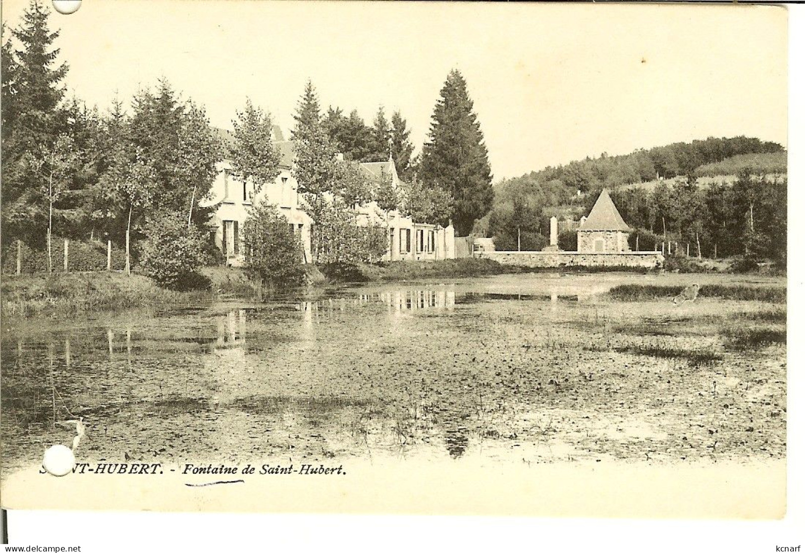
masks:
{"type": "Polygon", "coordinates": [[[609,188],[634,229],[633,248],[640,234],[641,250],[677,241],[691,255],[784,262],[786,155],[758,138],[708,138],[546,167],[497,183],[476,232],[495,237],[499,250],[516,250],[518,233],[522,250],[539,250],[556,216],[565,221],[559,246],[574,250],[572,221],[609,188]]]}

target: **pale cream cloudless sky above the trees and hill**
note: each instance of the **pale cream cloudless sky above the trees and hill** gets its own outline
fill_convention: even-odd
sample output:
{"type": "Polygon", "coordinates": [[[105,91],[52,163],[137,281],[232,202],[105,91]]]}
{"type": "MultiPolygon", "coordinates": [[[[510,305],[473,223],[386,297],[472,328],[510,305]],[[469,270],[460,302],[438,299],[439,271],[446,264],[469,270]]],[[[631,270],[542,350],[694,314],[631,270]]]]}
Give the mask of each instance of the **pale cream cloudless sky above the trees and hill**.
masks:
{"type": "MultiPolygon", "coordinates": [[[[27,0],[3,0],[6,25],[27,0]]],[[[47,3],[50,6],[50,3],[47,3]]],[[[55,11],[69,93],[107,109],[167,78],[232,128],[246,97],[288,132],[305,82],[419,151],[452,68],[495,180],[585,156],[745,134],[786,146],[786,10],[775,6],[84,0],[55,11]]]]}

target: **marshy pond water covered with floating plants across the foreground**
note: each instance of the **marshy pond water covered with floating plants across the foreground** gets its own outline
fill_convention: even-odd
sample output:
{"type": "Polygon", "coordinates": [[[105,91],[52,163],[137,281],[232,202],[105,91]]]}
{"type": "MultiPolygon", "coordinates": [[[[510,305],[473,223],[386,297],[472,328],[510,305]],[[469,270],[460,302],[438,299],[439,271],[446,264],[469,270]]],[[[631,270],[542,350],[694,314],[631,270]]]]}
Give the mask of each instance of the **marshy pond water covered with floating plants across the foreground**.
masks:
{"type": "Polygon", "coordinates": [[[785,287],[518,274],[4,321],[3,475],[69,445],[80,417],[79,461],[784,457],[784,303],[607,294],[695,282],[785,287]]]}

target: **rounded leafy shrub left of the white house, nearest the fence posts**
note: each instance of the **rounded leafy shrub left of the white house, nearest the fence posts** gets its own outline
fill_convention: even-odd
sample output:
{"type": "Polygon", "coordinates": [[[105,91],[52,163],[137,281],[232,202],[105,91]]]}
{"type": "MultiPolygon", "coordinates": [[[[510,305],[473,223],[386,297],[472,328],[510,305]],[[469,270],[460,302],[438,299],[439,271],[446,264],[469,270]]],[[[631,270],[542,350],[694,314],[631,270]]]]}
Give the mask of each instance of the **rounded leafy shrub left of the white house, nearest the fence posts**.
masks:
{"type": "Polygon", "coordinates": [[[160,286],[173,290],[208,287],[208,280],[193,276],[204,262],[204,237],[178,212],[151,217],[140,243],[140,268],[160,286]],[[190,288],[188,288],[190,287],[190,288]]]}

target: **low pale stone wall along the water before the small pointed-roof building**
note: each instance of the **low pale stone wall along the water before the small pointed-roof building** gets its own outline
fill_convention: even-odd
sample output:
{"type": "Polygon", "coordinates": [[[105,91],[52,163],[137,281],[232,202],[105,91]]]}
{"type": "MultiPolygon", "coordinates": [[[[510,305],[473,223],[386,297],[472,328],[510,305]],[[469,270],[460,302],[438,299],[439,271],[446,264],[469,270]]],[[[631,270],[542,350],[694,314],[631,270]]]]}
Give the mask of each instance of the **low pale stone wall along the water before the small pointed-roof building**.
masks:
{"type": "Polygon", "coordinates": [[[478,252],[478,258],[493,259],[502,265],[522,267],[645,267],[663,265],[659,252],[621,252],[619,254],[585,254],[572,251],[496,251],[478,252]]]}

